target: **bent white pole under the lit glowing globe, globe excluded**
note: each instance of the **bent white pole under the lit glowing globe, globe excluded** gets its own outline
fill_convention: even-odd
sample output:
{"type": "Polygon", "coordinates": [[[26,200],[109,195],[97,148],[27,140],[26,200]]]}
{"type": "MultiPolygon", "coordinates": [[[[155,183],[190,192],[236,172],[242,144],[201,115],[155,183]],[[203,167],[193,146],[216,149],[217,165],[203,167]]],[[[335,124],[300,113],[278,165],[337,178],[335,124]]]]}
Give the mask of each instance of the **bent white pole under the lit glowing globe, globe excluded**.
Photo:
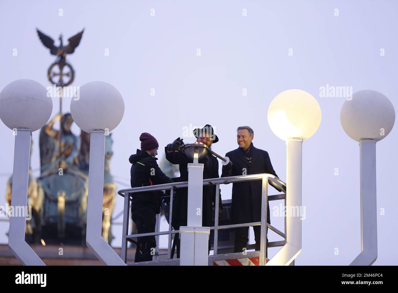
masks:
{"type": "Polygon", "coordinates": [[[266,265],[289,265],[302,248],[302,140],[289,139],[286,170],[286,244],[266,265]]]}

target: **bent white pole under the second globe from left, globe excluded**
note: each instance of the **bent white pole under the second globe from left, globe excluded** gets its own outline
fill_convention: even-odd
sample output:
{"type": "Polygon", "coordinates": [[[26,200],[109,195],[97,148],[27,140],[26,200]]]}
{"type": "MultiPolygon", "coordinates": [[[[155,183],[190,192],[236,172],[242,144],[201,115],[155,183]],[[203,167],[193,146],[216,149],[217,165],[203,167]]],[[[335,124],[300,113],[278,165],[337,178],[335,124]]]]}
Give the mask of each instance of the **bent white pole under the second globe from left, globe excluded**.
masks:
{"type": "Polygon", "coordinates": [[[105,131],[91,131],[86,244],[103,264],[126,265],[101,236],[104,157],[105,131]]]}

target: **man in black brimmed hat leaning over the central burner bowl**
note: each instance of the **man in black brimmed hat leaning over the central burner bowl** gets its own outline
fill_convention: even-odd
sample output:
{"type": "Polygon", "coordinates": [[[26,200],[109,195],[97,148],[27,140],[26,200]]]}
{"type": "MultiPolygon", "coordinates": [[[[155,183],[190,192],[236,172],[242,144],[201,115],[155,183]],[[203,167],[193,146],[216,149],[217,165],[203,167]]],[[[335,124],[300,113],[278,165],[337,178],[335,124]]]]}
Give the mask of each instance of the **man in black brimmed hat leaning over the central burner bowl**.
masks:
{"type": "MultiPolygon", "coordinates": [[[[193,135],[197,138],[197,142],[207,145],[211,148],[212,144],[219,141],[214,133],[213,127],[206,124],[203,128],[193,130],[193,135]]],[[[193,163],[192,159],[185,156],[179,148],[183,145],[180,138],[165,147],[166,159],[172,164],[179,165],[180,181],[188,181],[188,163],[193,163]]],[[[219,162],[217,158],[210,152],[199,159],[199,163],[204,164],[203,179],[219,178],[219,162]]],[[[221,193],[219,196],[220,208],[219,214],[222,212],[221,193]]],[[[213,226],[213,204],[216,203],[216,187],[203,187],[203,207],[202,207],[202,225],[204,227],[213,226]]],[[[187,206],[188,206],[188,189],[182,188],[176,190],[176,197],[173,201],[172,226],[178,230],[180,226],[187,226],[187,206]]],[[[178,236],[176,236],[178,237],[178,236]]],[[[179,258],[179,239],[176,238],[177,258],[179,258]]],[[[210,241],[209,241],[210,252],[210,241]]]]}

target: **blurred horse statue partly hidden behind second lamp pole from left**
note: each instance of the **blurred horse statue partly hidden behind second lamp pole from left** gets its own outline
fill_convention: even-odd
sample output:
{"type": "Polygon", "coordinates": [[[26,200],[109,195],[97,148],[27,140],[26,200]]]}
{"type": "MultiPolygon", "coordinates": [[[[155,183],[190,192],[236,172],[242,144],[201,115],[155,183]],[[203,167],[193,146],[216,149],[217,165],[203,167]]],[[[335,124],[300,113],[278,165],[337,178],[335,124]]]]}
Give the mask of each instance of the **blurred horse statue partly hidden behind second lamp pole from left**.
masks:
{"type": "MultiPolygon", "coordinates": [[[[80,153],[78,160],[80,170],[88,174],[90,159],[90,134],[82,130],[80,134],[80,153]]],[[[102,237],[107,243],[111,243],[113,236],[110,231],[111,216],[116,203],[116,185],[110,173],[110,161],[113,155],[112,134],[105,136],[105,162],[103,180],[103,201],[102,201],[102,237]]]]}

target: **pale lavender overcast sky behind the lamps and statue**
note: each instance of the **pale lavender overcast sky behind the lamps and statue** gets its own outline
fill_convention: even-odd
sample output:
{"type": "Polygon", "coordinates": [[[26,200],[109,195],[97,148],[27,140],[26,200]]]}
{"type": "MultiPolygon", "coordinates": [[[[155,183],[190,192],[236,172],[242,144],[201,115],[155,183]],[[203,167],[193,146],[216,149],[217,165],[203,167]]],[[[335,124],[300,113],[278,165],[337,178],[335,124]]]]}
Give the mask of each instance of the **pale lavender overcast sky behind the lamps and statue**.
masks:
{"type": "MultiPolygon", "coordinates": [[[[320,104],[322,122],[314,136],[303,143],[302,204],[306,219],[296,264],[347,265],[361,251],[359,146],[340,124],[345,97],[322,97],[320,87],[377,90],[398,109],[397,8],[393,0],[167,4],[2,0],[0,89],[16,79],[50,85],[47,68],[55,56],[41,44],[35,28],[53,39],[62,32],[64,43],[85,28],[79,47],[67,57],[76,70],[73,85],[105,81],[121,92],[125,102],[123,120],[112,132],[111,173],[125,183],[118,184],[118,189],[129,186],[128,158],[139,147],[142,132],[157,138],[162,154],[163,147],[182,136],[183,128],[190,124],[214,127],[220,141],[213,150],[220,155],[238,147],[238,126],[251,126],[254,146],[268,151],[276,173],[286,181],[286,145],[269,128],[267,109],[284,90],[309,92],[320,104]],[[242,95],[244,88],[247,96],[242,95]]],[[[55,98],[53,104],[52,117],[59,111],[59,101],[55,98]]],[[[64,112],[69,111],[69,104],[70,98],[65,98],[64,112]]],[[[76,125],[72,131],[80,134],[76,125]]],[[[2,123],[0,134],[0,205],[6,206],[14,136],[2,123]]],[[[33,143],[31,167],[37,169],[39,131],[33,133],[33,143]]],[[[377,143],[377,208],[384,208],[384,215],[378,212],[377,216],[375,265],[398,261],[398,198],[392,184],[398,165],[397,143],[397,127],[377,143]]],[[[231,186],[222,187],[223,199],[229,199],[230,193],[231,186]]],[[[270,189],[270,194],[275,193],[270,189]]],[[[283,201],[272,202],[271,212],[279,203],[283,201]]],[[[114,215],[122,209],[118,196],[114,215]]],[[[284,230],[282,217],[271,215],[271,224],[284,230]]],[[[7,230],[8,223],[0,222],[0,243],[7,243],[7,230]]],[[[113,233],[117,237],[113,245],[121,246],[121,227],[113,233]]],[[[281,240],[272,231],[268,238],[281,240]]],[[[278,249],[269,249],[269,256],[278,249]]]]}

